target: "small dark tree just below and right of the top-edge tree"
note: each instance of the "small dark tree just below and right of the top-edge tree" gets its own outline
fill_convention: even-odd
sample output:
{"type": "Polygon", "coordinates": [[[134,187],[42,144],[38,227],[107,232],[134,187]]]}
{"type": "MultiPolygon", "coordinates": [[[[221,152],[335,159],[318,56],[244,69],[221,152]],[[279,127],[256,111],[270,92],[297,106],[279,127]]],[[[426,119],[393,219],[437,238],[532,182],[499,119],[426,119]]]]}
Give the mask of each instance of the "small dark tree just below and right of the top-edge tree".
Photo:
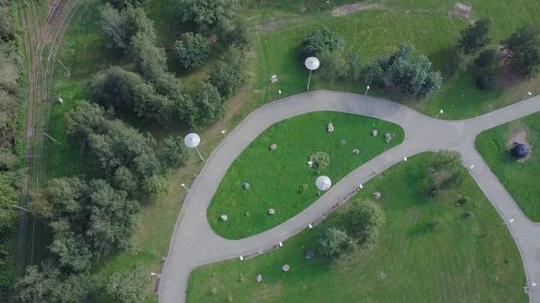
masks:
{"type": "Polygon", "coordinates": [[[246,49],[252,40],[249,24],[244,17],[238,17],[234,22],[228,19],[220,19],[217,36],[220,45],[225,49],[229,49],[231,46],[246,49]]]}

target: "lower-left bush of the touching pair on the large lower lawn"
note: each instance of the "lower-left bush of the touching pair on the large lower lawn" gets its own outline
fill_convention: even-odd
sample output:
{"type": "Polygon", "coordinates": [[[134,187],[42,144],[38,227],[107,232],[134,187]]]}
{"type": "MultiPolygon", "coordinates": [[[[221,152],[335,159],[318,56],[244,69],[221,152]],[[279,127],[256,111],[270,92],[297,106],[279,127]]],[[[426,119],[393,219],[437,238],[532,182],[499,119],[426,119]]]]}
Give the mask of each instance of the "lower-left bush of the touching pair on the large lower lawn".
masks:
{"type": "Polygon", "coordinates": [[[320,254],[339,259],[343,255],[353,254],[356,251],[356,240],[347,236],[346,231],[329,227],[317,236],[317,246],[320,254]]]}

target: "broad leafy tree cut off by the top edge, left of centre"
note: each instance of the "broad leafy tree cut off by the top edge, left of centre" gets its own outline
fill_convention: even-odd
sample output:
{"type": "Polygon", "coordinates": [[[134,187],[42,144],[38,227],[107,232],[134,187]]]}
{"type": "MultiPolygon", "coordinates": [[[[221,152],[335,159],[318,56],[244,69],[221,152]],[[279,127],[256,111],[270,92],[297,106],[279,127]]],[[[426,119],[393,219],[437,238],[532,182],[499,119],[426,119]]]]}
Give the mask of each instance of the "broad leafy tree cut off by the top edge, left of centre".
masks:
{"type": "Polygon", "coordinates": [[[208,31],[220,20],[231,20],[240,7],[239,0],[179,0],[182,21],[193,22],[199,31],[208,31]]]}

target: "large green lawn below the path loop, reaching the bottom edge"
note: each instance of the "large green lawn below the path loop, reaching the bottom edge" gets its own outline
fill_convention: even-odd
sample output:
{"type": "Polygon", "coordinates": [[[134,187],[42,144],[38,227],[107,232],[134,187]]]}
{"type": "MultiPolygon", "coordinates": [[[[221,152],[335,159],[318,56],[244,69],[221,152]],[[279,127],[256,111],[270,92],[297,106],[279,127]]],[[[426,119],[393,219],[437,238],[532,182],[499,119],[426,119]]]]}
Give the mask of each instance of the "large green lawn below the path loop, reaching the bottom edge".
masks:
{"type": "MultiPolygon", "coordinates": [[[[314,236],[340,220],[344,206],[320,226],[306,229],[279,250],[239,261],[195,269],[187,302],[528,302],[523,264],[509,230],[470,176],[464,185],[428,200],[428,154],[413,156],[365,184],[352,202],[374,200],[386,214],[379,243],[372,251],[331,263],[317,254],[314,236]],[[471,197],[464,207],[458,195],[471,197]],[[472,218],[464,218],[472,211],[472,218]],[[434,232],[428,222],[440,218],[434,232]],[[303,254],[313,251],[315,257],[303,254]],[[288,263],[290,272],[281,272],[288,263]],[[263,281],[255,277],[261,274],[263,281]],[[215,289],[212,291],[212,289],[215,289]],[[216,292],[213,294],[212,292],[216,292]]],[[[349,202],[350,203],[350,202],[349,202]]],[[[347,204],[346,204],[347,205],[347,204]]]]}

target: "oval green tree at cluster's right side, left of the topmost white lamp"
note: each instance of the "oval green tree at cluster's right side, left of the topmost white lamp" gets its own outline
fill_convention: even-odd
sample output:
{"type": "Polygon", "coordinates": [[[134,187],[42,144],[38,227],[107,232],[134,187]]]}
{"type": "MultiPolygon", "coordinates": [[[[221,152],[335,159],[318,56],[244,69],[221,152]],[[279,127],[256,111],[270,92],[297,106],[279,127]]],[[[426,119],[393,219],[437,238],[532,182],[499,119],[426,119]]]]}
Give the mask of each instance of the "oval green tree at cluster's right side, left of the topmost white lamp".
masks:
{"type": "Polygon", "coordinates": [[[247,59],[238,48],[230,48],[211,67],[210,83],[225,99],[247,82],[247,59]]]}

